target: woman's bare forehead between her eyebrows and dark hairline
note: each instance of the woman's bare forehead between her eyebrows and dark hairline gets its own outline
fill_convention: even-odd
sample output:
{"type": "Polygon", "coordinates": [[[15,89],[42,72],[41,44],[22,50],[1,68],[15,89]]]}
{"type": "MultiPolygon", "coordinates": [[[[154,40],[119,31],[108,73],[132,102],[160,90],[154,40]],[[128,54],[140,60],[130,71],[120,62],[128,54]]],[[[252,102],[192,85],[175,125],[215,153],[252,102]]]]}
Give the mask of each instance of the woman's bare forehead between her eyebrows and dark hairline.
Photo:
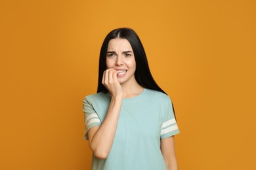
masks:
{"type": "Polygon", "coordinates": [[[127,39],[117,38],[111,39],[110,42],[108,42],[108,50],[133,51],[133,48],[127,39]]]}

